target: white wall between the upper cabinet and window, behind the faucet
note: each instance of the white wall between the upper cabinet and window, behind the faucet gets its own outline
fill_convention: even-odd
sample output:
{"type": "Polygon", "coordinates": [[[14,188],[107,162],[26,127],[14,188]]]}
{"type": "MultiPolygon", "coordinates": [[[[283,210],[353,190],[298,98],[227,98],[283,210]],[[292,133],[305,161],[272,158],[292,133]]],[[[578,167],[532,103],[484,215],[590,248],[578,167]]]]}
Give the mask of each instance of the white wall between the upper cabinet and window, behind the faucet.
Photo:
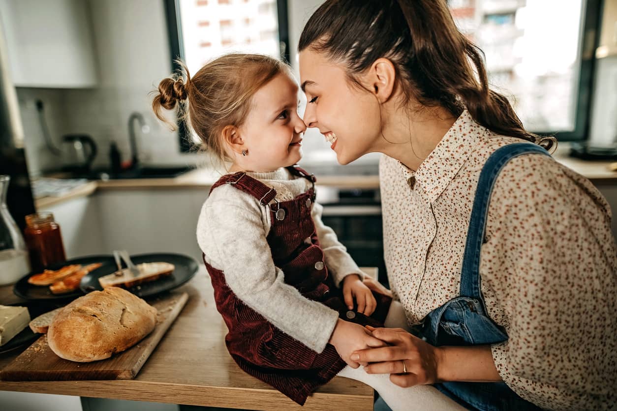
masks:
{"type": "MultiPolygon", "coordinates": [[[[116,140],[129,157],[128,118],[142,113],[149,134],[139,130],[138,148],[149,163],[195,163],[201,157],[180,154],[176,132],[170,132],[155,118],[152,96],[159,81],[171,74],[171,57],[161,0],[88,0],[96,56],[99,87],[67,91],[70,128],[92,134],[101,154],[97,163],[109,161],[110,140],[116,140]]],[[[138,128],[138,127],[137,127],[138,128]]]]}

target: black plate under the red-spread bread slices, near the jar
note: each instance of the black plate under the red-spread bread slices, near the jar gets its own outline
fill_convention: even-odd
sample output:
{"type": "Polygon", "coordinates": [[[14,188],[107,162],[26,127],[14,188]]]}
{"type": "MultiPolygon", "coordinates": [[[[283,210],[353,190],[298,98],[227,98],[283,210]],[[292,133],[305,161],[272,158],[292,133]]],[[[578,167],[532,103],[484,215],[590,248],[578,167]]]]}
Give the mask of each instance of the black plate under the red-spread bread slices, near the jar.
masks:
{"type": "MultiPolygon", "coordinates": [[[[57,270],[64,266],[68,266],[69,264],[92,264],[93,262],[102,262],[104,266],[108,264],[114,265],[114,257],[109,254],[100,255],[100,256],[86,256],[86,257],[78,257],[73,258],[65,262],[60,262],[59,264],[53,264],[49,266],[51,270],[57,270]]],[[[115,267],[115,266],[114,266],[115,267]]],[[[102,268],[102,267],[100,267],[102,268]]],[[[28,299],[30,301],[33,300],[59,300],[59,301],[68,301],[71,299],[78,298],[83,295],[83,291],[79,288],[77,290],[72,291],[66,294],[53,294],[51,290],[49,290],[49,285],[32,285],[28,283],[28,279],[32,276],[38,274],[36,272],[31,272],[26,275],[22,279],[20,279],[17,283],[15,283],[15,287],[13,287],[13,292],[18,297],[23,299],[28,299]]]]}

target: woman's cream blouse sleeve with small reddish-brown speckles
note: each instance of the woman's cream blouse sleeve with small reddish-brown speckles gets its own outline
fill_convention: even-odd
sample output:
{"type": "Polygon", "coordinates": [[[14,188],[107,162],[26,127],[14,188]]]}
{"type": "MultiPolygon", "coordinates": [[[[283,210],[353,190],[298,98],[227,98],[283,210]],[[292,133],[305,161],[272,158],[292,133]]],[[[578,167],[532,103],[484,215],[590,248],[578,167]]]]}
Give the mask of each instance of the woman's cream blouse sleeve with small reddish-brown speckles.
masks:
{"type": "Polygon", "coordinates": [[[500,376],[543,408],[602,409],[617,386],[608,204],[539,155],[511,160],[491,198],[481,276],[507,315],[508,340],[492,346],[500,376]]]}

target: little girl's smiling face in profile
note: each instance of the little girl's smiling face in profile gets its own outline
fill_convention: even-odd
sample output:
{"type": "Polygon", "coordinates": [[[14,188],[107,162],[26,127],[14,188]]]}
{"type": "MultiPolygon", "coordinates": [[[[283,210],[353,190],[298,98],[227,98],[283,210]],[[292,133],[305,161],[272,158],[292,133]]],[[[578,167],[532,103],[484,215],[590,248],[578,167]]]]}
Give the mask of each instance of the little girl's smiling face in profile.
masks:
{"type": "Polygon", "coordinates": [[[298,86],[280,74],[255,92],[238,128],[248,154],[236,163],[246,171],[273,171],[302,158],[304,121],[298,116],[298,86]]]}

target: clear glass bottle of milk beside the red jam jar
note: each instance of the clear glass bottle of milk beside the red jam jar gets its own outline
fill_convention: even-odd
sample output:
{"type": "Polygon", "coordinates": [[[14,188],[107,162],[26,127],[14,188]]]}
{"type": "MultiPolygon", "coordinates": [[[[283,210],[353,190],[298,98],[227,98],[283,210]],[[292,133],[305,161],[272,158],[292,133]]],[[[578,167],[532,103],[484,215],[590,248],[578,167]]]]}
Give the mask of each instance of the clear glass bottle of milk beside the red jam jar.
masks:
{"type": "Polygon", "coordinates": [[[26,243],[6,205],[9,182],[9,176],[0,175],[0,285],[15,283],[30,272],[26,243]]]}

